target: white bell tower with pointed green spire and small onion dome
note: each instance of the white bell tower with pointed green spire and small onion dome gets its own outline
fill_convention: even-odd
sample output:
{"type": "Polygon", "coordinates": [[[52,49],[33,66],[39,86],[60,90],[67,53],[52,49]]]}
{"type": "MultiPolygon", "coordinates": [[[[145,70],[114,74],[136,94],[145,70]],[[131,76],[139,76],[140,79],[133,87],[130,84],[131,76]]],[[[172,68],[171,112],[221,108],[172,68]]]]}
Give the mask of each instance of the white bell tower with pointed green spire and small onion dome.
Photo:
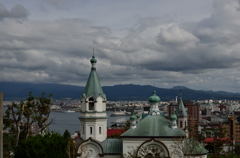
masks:
{"type": "Polygon", "coordinates": [[[81,127],[81,137],[88,139],[92,137],[98,141],[103,141],[107,137],[107,114],[106,95],[103,93],[101,83],[96,72],[94,55],[90,60],[92,64],[91,72],[84,92],[80,98],[81,115],[79,117],[81,127]]]}

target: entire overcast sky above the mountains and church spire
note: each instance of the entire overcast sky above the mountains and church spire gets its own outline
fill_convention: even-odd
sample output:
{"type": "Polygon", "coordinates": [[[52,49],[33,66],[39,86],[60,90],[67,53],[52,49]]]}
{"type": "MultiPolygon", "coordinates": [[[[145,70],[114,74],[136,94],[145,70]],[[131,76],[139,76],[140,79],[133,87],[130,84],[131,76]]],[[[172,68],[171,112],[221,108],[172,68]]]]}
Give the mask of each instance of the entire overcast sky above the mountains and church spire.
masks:
{"type": "Polygon", "coordinates": [[[0,81],[240,92],[238,0],[1,0],[0,81]]]}

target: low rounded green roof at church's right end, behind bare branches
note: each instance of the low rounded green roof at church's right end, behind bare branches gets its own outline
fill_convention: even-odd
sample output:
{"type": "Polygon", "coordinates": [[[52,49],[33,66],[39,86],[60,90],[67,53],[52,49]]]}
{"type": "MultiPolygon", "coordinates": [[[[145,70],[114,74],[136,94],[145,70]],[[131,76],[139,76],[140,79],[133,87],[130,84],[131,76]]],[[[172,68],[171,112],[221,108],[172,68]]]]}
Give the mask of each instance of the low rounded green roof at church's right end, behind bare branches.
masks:
{"type": "Polygon", "coordinates": [[[198,141],[188,138],[184,141],[184,155],[205,155],[208,153],[201,143],[198,141]]]}

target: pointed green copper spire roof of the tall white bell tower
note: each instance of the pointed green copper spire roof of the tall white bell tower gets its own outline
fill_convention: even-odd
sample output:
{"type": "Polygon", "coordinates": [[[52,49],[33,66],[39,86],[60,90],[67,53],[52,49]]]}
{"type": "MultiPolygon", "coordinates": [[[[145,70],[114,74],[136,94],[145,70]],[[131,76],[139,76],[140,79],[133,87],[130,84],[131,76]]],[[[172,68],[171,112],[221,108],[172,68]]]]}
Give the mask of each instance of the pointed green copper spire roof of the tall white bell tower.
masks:
{"type": "Polygon", "coordinates": [[[92,96],[97,99],[97,97],[101,96],[106,99],[106,95],[103,93],[102,86],[100,80],[97,75],[97,71],[95,67],[92,67],[90,75],[88,77],[88,81],[84,92],[82,94],[83,97],[88,98],[92,96]]]}

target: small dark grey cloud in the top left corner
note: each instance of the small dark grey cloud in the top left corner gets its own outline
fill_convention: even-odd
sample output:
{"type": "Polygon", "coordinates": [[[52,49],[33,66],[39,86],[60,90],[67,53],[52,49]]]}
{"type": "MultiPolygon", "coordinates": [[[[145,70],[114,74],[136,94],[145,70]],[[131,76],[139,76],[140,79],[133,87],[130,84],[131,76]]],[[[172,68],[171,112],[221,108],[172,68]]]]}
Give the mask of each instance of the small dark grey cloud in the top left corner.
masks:
{"type": "Polygon", "coordinates": [[[0,20],[4,18],[21,18],[25,19],[29,16],[29,11],[21,4],[15,5],[11,10],[0,3],[0,20]]]}

